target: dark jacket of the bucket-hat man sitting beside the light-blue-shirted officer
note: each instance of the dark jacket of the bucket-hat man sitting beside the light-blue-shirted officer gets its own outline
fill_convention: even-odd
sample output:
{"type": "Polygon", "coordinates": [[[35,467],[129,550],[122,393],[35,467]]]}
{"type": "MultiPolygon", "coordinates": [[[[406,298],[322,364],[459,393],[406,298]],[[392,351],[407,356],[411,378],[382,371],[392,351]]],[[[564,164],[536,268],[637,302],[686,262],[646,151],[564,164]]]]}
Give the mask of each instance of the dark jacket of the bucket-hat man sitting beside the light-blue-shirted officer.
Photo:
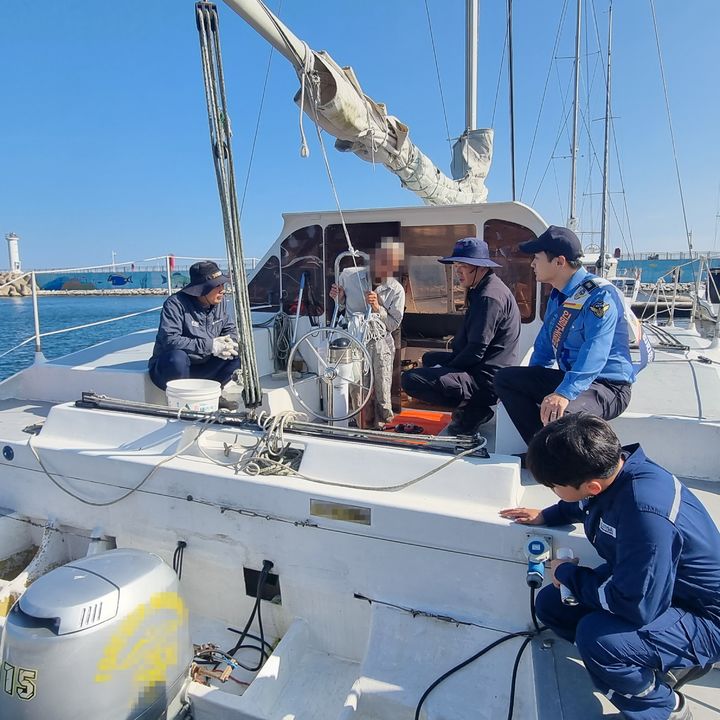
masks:
{"type": "Polygon", "coordinates": [[[470,375],[517,365],[520,310],[510,288],[492,270],[468,293],[460,331],[446,367],[470,375]]]}

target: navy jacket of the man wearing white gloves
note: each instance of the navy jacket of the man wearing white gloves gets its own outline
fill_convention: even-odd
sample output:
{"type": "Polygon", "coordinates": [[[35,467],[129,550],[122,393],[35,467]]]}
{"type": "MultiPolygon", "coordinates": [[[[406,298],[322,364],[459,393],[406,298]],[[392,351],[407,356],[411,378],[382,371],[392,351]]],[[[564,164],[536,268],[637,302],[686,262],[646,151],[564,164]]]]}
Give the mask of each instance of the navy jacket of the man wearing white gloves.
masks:
{"type": "Polygon", "coordinates": [[[183,350],[195,365],[212,357],[212,341],[220,335],[232,335],[237,339],[235,323],[228,315],[225,303],[204,308],[192,295],[182,290],[171,295],[163,304],[160,327],[155,337],[155,347],[149,361],[168,350],[183,350]]]}

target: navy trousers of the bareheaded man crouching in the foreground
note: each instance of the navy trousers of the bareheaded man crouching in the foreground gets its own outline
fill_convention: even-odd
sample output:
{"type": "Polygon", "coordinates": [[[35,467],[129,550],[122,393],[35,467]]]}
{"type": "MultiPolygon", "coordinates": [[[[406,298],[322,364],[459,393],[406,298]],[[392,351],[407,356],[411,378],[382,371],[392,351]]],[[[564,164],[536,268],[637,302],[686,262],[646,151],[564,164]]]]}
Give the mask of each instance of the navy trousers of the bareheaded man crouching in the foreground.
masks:
{"type": "Polygon", "coordinates": [[[559,590],[548,585],[535,609],[542,623],[577,645],[595,687],[628,720],[669,717],[675,700],[658,673],[720,659],[720,627],[679,608],[637,627],[604,610],[563,605],[559,590]]]}

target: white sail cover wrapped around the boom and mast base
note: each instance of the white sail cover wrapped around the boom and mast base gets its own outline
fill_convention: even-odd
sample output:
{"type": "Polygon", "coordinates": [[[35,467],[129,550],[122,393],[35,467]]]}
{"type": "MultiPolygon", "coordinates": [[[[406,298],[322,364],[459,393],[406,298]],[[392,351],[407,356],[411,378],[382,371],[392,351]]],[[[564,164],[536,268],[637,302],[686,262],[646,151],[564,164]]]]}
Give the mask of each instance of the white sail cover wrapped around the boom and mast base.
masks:
{"type": "MultiPolygon", "coordinates": [[[[451,179],[411,142],[407,125],[389,115],[385,105],[363,93],[352,68],[341,68],[327,53],[313,51],[312,76],[317,78],[319,88],[317,112],[307,91],[303,110],[337,138],[338,150],[381,163],[428,205],[487,200],[485,178],[492,160],[491,129],[473,130],[459,138],[453,148],[456,179],[451,179]]],[[[296,102],[300,98],[298,92],[296,102]]]]}

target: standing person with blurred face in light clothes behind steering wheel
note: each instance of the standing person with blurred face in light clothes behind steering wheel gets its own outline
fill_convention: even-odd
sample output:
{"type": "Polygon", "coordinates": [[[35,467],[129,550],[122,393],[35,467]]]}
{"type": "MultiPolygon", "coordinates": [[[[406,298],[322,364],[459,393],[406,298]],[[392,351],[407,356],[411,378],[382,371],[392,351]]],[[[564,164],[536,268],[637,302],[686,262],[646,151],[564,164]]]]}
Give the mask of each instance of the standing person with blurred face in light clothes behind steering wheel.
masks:
{"type": "MultiPolygon", "coordinates": [[[[369,334],[367,345],[373,364],[373,409],[377,429],[383,429],[393,419],[393,333],[400,329],[405,313],[405,289],[397,280],[404,255],[404,246],[399,240],[381,238],[380,245],[370,254],[370,268],[345,268],[340,273],[337,285],[330,288],[330,297],[344,305],[349,316],[359,314],[364,317],[369,308],[371,315],[380,320],[381,329],[377,336],[372,332],[369,334]],[[372,272],[372,284],[368,272],[372,272]]],[[[348,317],[348,322],[351,322],[351,317],[348,317]]]]}

